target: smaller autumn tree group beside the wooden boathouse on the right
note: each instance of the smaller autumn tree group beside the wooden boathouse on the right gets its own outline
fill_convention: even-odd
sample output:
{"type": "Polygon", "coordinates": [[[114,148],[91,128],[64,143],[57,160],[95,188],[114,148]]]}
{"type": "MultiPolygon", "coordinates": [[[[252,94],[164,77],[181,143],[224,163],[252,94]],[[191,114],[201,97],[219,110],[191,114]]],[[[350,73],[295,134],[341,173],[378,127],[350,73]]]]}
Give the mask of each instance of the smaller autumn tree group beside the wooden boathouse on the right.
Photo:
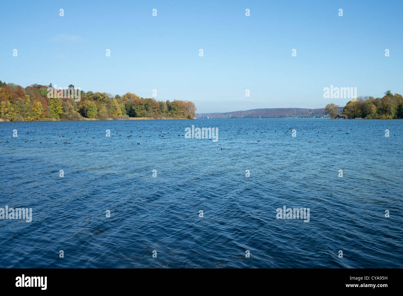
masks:
{"type": "MultiPolygon", "coordinates": [[[[339,106],[334,103],[327,104],[325,112],[331,118],[339,114],[339,106]]],[[[342,114],[350,118],[365,119],[395,119],[403,118],[403,97],[398,93],[385,91],[383,97],[357,97],[356,100],[349,101],[343,109],[342,114]]]]}

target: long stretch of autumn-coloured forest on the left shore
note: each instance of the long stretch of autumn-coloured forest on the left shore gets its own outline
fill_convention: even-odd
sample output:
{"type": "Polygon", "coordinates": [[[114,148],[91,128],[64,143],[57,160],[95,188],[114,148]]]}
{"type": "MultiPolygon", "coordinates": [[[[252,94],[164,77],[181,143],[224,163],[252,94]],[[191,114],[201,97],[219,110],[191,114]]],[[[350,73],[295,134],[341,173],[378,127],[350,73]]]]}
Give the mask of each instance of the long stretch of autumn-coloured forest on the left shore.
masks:
{"type": "MultiPolygon", "coordinates": [[[[69,85],[74,89],[74,85],[69,85]]],[[[50,85],[32,84],[25,88],[0,81],[0,120],[123,120],[130,118],[191,119],[196,107],[191,101],[156,101],[134,93],[110,95],[81,91],[80,99],[57,95],[50,85]],[[52,90],[53,95],[48,95],[52,90]]]]}

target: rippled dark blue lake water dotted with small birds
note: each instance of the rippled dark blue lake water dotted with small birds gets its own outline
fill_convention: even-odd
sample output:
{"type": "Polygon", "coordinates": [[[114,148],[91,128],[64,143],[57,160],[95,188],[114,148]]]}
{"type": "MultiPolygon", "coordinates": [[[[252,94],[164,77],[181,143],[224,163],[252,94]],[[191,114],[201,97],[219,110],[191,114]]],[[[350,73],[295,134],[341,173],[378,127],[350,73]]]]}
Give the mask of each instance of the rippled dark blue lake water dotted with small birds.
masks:
{"type": "Polygon", "coordinates": [[[403,267],[402,148],[403,120],[0,122],[0,207],[33,211],[0,267],[403,267]]]}

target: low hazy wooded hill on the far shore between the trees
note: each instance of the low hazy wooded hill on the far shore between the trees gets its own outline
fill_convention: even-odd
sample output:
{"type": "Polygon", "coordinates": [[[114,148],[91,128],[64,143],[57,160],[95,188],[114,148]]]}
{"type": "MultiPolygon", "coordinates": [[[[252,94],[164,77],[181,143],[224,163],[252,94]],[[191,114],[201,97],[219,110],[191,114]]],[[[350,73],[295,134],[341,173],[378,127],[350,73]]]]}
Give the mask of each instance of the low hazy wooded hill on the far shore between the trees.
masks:
{"type": "MultiPolygon", "coordinates": [[[[344,107],[339,107],[339,113],[344,107]]],[[[324,108],[264,108],[246,111],[234,111],[225,113],[202,113],[196,114],[196,118],[328,118],[324,108]]]]}

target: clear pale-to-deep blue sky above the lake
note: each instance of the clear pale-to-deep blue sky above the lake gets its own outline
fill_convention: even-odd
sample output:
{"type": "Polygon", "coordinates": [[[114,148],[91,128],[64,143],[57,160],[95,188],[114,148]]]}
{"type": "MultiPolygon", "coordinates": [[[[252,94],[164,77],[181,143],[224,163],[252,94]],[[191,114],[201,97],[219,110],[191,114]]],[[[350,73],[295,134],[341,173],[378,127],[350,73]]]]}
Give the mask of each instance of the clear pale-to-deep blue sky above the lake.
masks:
{"type": "Polygon", "coordinates": [[[402,13],[401,0],[4,1],[0,80],[157,89],[157,100],[191,100],[197,113],[344,106],[323,88],[403,93],[402,13]]]}

